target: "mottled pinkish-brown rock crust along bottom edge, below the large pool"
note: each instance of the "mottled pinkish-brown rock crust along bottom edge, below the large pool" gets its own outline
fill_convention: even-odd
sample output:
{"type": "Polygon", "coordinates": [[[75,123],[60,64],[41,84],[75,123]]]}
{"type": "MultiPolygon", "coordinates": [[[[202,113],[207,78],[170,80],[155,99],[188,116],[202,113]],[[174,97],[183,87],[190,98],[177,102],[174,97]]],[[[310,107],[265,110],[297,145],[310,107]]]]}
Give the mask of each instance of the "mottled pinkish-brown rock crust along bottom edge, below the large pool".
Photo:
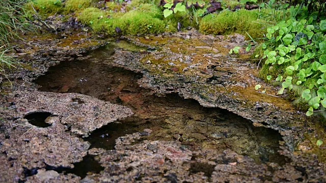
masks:
{"type": "MultiPolygon", "coordinates": [[[[150,130],[145,130],[151,133],[150,130]]],[[[294,168],[256,164],[230,149],[189,149],[180,142],[148,141],[133,144],[142,133],[117,139],[115,150],[92,148],[105,169],[88,175],[83,182],[268,182],[304,179],[294,168]]]]}

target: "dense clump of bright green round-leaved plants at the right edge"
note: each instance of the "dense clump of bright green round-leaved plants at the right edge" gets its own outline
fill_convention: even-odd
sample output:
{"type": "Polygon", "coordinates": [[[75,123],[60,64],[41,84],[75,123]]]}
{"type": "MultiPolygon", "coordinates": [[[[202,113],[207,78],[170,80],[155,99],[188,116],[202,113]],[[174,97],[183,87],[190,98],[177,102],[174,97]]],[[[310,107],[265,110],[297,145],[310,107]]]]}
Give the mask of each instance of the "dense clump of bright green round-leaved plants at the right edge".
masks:
{"type": "Polygon", "coordinates": [[[314,110],[324,110],[326,107],[326,36],[323,29],[324,20],[317,22],[317,17],[307,19],[289,19],[267,28],[267,41],[262,45],[265,66],[279,66],[281,70],[267,71],[282,82],[283,94],[287,88],[296,88],[301,98],[310,108],[307,115],[314,110]],[[265,46],[265,45],[268,46],[265,46]],[[280,79],[283,75],[285,80],[280,79]],[[303,88],[303,89],[297,89],[303,88]]]}

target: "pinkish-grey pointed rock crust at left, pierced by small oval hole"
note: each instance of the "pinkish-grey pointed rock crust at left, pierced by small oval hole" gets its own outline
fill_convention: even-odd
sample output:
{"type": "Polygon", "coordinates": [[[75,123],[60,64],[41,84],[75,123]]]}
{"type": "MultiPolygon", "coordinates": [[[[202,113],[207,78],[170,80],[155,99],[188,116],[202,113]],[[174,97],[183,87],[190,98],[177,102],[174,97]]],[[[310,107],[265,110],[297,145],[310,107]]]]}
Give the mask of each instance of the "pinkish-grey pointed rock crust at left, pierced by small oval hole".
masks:
{"type": "MultiPolygon", "coordinates": [[[[24,90],[13,92],[6,98],[16,101],[2,111],[6,119],[1,123],[8,134],[1,136],[1,162],[4,170],[8,168],[8,172],[14,173],[11,180],[22,178],[23,168],[73,167],[72,163],[82,161],[90,146],[77,134],[87,136],[96,128],[132,114],[126,107],[78,94],[24,90]],[[73,102],[75,98],[84,103],[73,102]],[[35,111],[51,113],[53,116],[45,119],[51,126],[38,128],[23,119],[24,114],[35,111]]],[[[10,181],[10,173],[2,172],[2,180],[10,181]]]]}

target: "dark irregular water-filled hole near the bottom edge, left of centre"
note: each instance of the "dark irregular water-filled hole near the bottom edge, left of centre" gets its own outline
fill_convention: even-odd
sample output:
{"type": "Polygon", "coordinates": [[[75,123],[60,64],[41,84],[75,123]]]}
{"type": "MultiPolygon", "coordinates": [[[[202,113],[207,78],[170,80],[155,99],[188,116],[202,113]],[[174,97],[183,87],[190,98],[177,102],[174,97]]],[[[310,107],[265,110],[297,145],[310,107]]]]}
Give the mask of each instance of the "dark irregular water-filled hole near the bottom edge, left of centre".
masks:
{"type": "Polygon", "coordinates": [[[94,159],[94,156],[92,155],[86,155],[83,157],[83,161],[73,163],[74,168],[66,168],[66,167],[53,167],[46,165],[45,169],[46,170],[55,170],[58,173],[72,173],[75,175],[78,175],[82,178],[85,178],[86,175],[89,173],[100,173],[102,170],[104,170],[104,167],[102,167],[98,161],[94,159]]]}

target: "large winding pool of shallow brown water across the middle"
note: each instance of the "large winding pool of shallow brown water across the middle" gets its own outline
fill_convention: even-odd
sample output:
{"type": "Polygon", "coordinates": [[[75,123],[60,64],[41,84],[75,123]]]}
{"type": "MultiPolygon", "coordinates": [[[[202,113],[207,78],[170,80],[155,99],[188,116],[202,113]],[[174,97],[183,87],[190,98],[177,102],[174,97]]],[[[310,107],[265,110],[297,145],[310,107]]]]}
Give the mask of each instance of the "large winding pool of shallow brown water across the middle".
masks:
{"type": "Polygon", "coordinates": [[[257,162],[285,163],[277,152],[282,140],[277,131],[254,127],[227,110],[205,108],[177,94],[157,96],[137,83],[142,74],[92,62],[105,54],[107,50],[102,49],[87,60],[61,62],[35,80],[42,91],[85,94],[133,110],[133,116],[85,138],[92,147],[113,149],[118,137],[149,128],[153,132],[144,136],[148,140],[178,140],[189,148],[216,149],[216,153],[230,148],[257,162]]]}

